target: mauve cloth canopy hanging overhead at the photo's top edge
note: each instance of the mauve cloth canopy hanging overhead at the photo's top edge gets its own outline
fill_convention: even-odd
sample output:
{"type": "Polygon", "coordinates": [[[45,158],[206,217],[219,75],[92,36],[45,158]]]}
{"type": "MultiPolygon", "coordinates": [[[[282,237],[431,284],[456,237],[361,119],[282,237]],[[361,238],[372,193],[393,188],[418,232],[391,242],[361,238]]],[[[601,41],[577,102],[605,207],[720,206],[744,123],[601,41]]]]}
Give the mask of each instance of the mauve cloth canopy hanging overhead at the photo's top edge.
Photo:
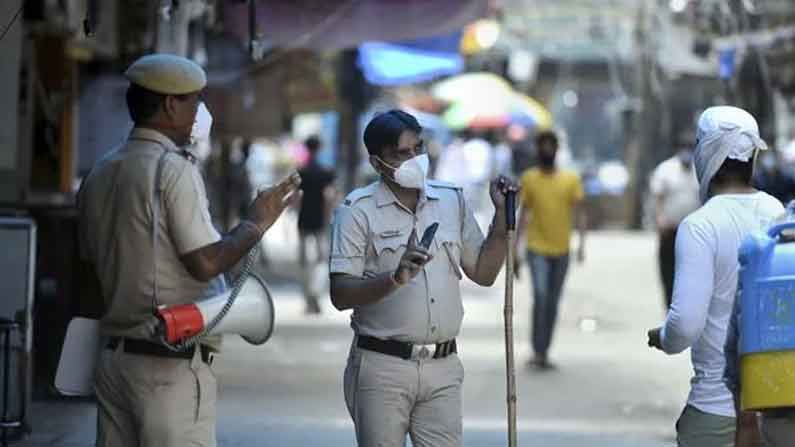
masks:
{"type": "MultiPolygon", "coordinates": [[[[268,44],[282,48],[334,50],[367,41],[397,42],[461,29],[486,15],[483,0],[263,0],[257,29],[268,44]]],[[[248,6],[224,4],[226,29],[248,39],[248,6]]]]}

